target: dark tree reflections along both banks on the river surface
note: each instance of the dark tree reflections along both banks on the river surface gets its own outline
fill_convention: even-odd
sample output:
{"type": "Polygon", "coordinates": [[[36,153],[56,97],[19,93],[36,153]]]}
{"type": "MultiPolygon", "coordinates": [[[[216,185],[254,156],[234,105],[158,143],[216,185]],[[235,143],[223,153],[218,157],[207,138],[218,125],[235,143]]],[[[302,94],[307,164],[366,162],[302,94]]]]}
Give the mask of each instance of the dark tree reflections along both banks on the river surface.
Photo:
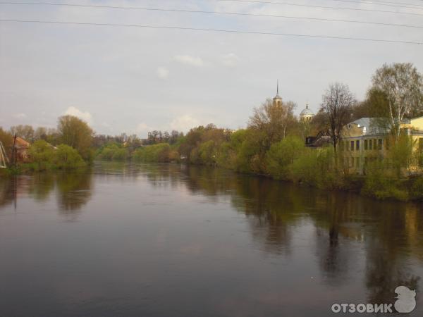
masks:
{"type": "Polygon", "coordinates": [[[225,199],[228,206],[245,215],[253,242],[265,254],[292,256],[295,236],[311,228],[304,243],[314,251],[321,282],[333,287],[345,284],[357,276],[357,263],[362,263],[369,303],[393,302],[398,285],[419,292],[419,277],[412,263],[417,261],[418,267],[423,263],[419,204],[324,192],[220,168],[96,163],[93,171],[1,179],[0,206],[25,195],[44,201],[55,193],[59,213],[66,220],[75,220],[92,198],[93,183],[111,177],[116,187],[124,178],[134,184],[147,182],[154,188],[201,195],[212,203],[225,199]]]}

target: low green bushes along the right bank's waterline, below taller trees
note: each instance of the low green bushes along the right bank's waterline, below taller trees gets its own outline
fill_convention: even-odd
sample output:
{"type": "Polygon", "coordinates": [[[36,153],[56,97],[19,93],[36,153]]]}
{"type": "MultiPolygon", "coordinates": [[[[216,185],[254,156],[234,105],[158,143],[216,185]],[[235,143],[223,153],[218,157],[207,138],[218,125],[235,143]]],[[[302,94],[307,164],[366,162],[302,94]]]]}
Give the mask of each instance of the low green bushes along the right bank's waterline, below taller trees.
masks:
{"type": "MultiPolygon", "coordinates": [[[[214,139],[216,139],[216,130],[214,139]]],[[[286,137],[262,147],[260,139],[255,139],[251,130],[233,132],[228,140],[204,140],[191,142],[189,132],[179,144],[152,144],[130,152],[117,146],[105,147],[98,158],[110,161],[130,159],[143,162],[179,162],[203,166],[219,166],[238,173],[265,175],[275,180],[285,180],[295,184],[319,189],[340,189],[357,192],[376,199],[398,201],[423,200],[423,175],[401,177],[407,168],[403,156],[400,159],[369,161],[365,175],[351,173],[348,162],[342,154],[336,154],[333,147],[310,149],[302,139],[286,137]],[[190,144],[192,143],[192,144],[190,144]],[[125,156],[118,155],[123,150],[125,156]],[[388,163],[389,162],[389,163],[388,163]]],[[[202,132],[207,134],[209,132],[202,132]]],[[[207,139],[207,138],[206,138],[207,139]]]]}

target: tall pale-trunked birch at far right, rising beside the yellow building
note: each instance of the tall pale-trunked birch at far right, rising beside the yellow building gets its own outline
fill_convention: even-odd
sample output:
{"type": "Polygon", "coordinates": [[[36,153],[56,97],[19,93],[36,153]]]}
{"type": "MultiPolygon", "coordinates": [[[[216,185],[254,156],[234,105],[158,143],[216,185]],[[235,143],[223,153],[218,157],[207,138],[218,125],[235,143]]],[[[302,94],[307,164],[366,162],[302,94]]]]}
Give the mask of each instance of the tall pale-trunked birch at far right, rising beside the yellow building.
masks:
{"type": "Polygon", "coordinates": [[[403,119],[423,111],[422,75],[410,63],[384,64],[373,76],[372,89],[386,96],[386,103],[378,110],[398,139],[403,119]]]}

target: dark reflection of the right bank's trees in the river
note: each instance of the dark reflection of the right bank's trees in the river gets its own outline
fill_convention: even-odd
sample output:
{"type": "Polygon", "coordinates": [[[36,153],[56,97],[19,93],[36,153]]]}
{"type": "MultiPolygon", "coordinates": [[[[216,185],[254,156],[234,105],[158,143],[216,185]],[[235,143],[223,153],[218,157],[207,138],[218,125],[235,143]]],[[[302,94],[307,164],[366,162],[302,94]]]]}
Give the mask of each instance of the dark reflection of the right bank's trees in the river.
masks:
{"type": "Polygon", "coordinates": [[[323,192],[216,168],[143,168],[154,186],[170,180],[211,201],[230,197],[266,253],[289,255],[293,234],[311,221],[317,263],[328,285],[343,285],[355,278],[357,256],[364,249],[368,302],[393,302],[392,291],[398,285],[419,292],[419,276],[410,258],[423,266],[421,204],[323,192]]]}

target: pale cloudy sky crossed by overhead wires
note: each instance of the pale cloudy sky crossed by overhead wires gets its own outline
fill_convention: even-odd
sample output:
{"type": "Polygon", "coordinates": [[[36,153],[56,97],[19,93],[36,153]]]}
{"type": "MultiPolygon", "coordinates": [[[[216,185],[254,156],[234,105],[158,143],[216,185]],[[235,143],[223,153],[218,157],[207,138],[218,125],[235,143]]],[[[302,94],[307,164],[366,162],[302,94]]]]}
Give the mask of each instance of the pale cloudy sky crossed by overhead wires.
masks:
{"type": "MultiPolygon", "coordinates": [[[[364,20],[420,28],[31,4],[0,4],[0,20],[157,25],[408,42],[422,42],[423,38],[422,0],[399,1],[407,6],[414,4],[414,8],[386,6],[382,0],[267,1],[285,4],[217,0],[50,1],[364,20]]],[[[393,0],[383,1],[398,5],[393,0]]],[[[281,97],[298,105],[295,113],[300,113],[307,102],[316,112],[321,95],[333,82],[345,83],[357,99],[363,99],[372,75],[384,63],[413,63],[423,73],[423,45],[0,22],[0,126],[30,124],[54,128],[59,116],[71,114],[86,120],[97,133],[108,135],[125,132],[146,137],[150,130],[186,132],[208,123],[238,129],[245,127],[254,107],[274,97],[277,80],[281,97]]]]}

